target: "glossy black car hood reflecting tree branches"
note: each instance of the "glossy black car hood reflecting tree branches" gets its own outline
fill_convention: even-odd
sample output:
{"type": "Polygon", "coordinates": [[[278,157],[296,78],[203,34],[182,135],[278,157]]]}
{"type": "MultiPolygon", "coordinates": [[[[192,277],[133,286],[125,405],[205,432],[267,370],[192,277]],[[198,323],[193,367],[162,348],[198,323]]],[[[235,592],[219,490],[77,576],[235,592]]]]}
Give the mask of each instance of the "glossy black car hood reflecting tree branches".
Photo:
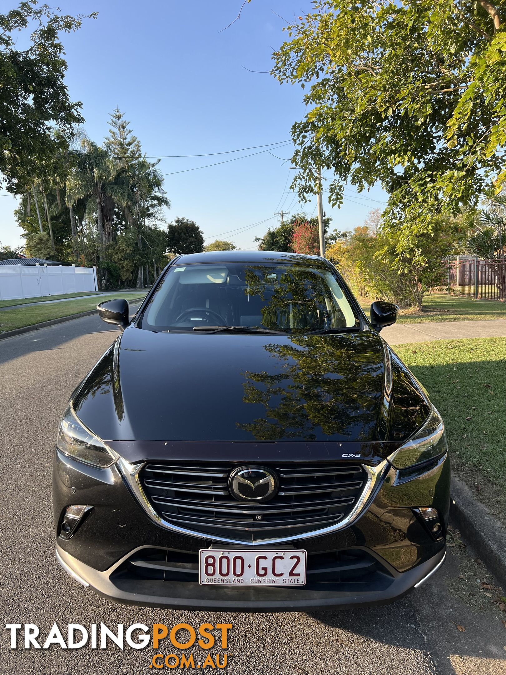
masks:
{"type": "Polygon", "coordinates": [[[397,445],[428,400],[371,329],[334,335],[128,327],[73,395],[107,441],[397,445]]]}

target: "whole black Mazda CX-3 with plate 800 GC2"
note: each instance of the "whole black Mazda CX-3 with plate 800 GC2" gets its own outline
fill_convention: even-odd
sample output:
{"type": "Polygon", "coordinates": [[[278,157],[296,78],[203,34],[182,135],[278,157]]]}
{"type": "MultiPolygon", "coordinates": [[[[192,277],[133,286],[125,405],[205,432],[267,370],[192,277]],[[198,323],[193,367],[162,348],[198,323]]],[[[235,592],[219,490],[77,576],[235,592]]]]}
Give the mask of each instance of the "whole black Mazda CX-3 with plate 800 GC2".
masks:
{"type": "Polygon", "coordinates": [[[175,258],[57,433],[57,558],[124,602],[297,610],[391,601],[445,558],[445,427],[329,261],[175,258]]]}

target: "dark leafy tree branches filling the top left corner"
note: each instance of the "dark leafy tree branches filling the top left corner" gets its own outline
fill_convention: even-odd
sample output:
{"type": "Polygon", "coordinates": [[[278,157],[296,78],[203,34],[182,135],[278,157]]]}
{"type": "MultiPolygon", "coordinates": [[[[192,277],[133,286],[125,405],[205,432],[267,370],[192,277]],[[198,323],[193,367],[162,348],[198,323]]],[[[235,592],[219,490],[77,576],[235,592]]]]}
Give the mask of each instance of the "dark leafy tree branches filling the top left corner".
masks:
{"type": "MultiPolygon", "coordinates": [[[[0,14],[0,173],[16,194],[28,189],[82,122],[81,104],[70,102],[63,82],[67,63],[59,34],[78,30],[86,17],[58,12],[27,0],[0,14]],[[28,26],[33,26],[28,47],[18,49],[18,32],[28,26]],[[59,137],[51,133],[55,125],[59,137]]],[[[88,17],[96,18],[96,12],[88,17]]]]}

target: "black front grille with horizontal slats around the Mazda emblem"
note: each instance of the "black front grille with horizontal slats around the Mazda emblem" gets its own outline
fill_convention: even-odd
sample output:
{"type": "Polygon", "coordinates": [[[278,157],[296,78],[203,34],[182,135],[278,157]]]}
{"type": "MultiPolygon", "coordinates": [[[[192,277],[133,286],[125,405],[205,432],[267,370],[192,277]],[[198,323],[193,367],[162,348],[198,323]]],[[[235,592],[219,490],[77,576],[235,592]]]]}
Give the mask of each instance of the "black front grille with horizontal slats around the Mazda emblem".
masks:
{"type": "Polygon", "coordinates": [[[269,502],[240,502],[228,478],[239,464],[148,462],[139,474],[152,508],[169,523],[208,537],[262,541],[304,534],[346,518],[362,495],[360,464],[262,464],[279,477],[269,502]]]}

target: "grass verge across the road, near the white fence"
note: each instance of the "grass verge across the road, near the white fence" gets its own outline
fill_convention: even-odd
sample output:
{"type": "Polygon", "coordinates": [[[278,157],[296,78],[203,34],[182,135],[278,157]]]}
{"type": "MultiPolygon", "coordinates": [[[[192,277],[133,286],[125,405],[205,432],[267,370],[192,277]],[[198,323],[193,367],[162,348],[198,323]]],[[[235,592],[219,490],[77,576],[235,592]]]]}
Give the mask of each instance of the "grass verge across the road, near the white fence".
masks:
{"type": "MultiPolygon", "coordinates": [[[[115,298],[125,298],[132,302],[133,300],[142,300],[146,291],[139,290],[135,292],[117,292],[104,296],[105,300],[114,300],[115,298]]],[[[30,307],[20,307],[18,309],[7,309],[0,312],[0,331],[11,331],[24,326],[31,326],[34,323],[59,319],[60,317],[69,317],[72,314],[87,312],[96,307],[99,298],[76,298],[68,302],[55,302],[55,304],[38,304],[30,307]]]]}

